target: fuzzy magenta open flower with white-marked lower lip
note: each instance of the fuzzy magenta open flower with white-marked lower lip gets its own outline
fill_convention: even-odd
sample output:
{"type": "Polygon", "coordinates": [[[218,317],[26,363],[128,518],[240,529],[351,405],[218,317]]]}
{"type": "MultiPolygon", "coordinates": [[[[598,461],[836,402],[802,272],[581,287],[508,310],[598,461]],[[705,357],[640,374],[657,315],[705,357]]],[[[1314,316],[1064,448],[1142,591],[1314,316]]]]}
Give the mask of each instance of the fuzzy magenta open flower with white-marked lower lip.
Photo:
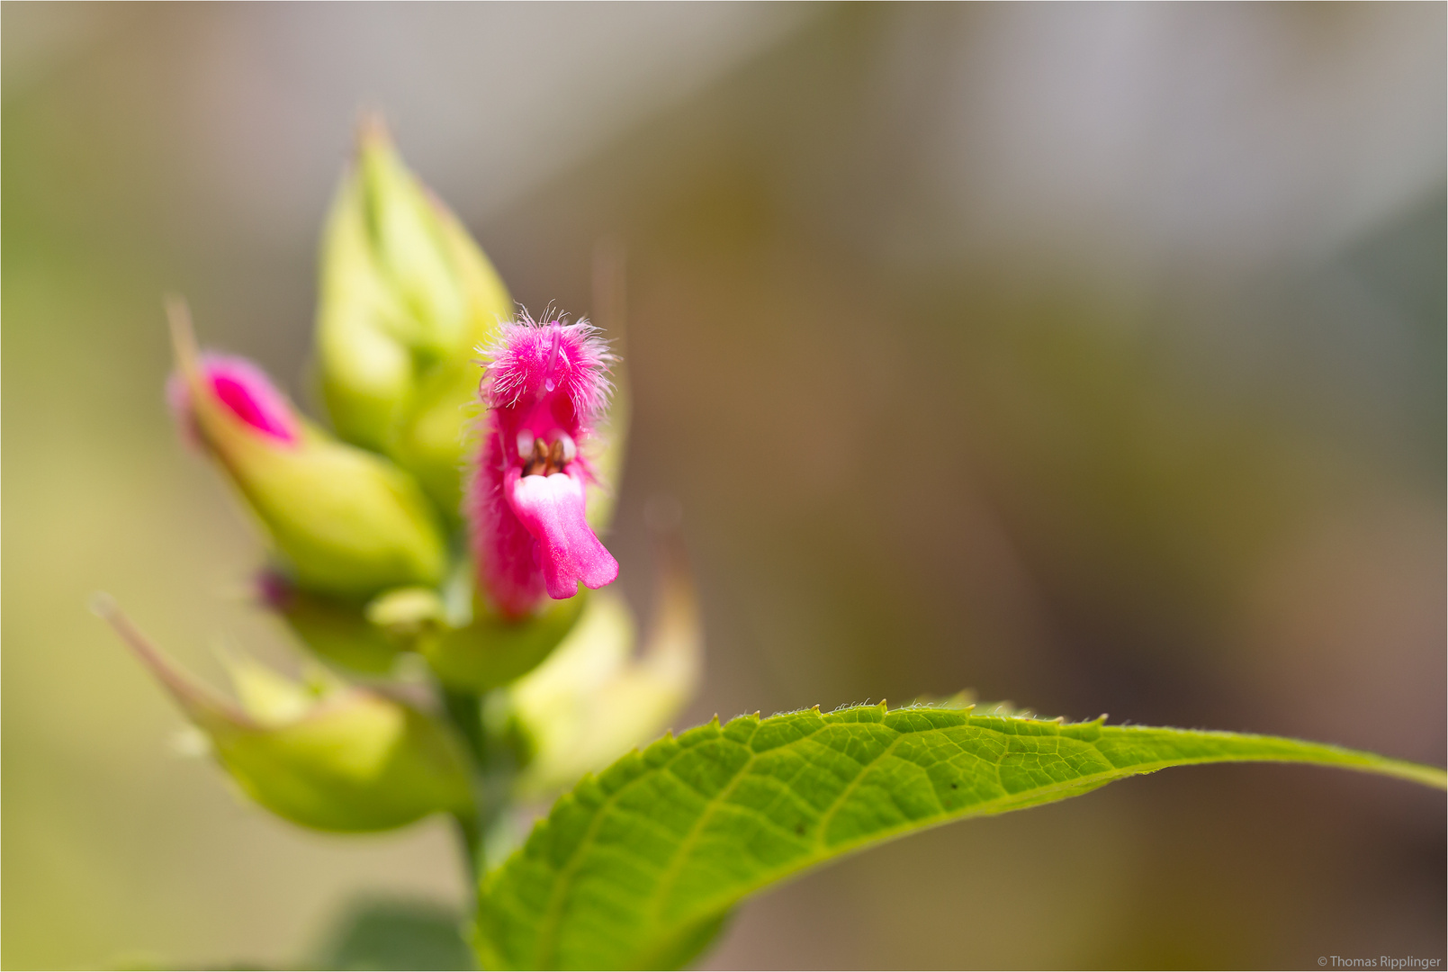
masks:
{"type": "Polygon", "coordinates": [[[608,403],[613,355],[586,322],[524,313],[487,349],[482,442],[468,494],[478,581],[508,617],[546,592],[599,588],[618,562],[584,517],[592,478],[584,445],[608,403]]]}

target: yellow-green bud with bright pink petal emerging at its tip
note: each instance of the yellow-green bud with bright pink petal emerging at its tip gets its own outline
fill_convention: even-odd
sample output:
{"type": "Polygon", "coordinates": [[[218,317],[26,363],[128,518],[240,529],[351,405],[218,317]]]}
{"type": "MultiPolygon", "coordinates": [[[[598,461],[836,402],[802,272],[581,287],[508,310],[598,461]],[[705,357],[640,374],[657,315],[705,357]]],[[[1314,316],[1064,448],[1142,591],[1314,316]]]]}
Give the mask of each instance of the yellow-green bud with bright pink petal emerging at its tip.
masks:
{"type": "Polygon", "coordinates": [[[300,587],[358,598],[442,581],[446,545],[413,477],[311,426],[253,365],[197,353],[184,306],[169,311],[178,420],[226,471],[300,587]]]}

